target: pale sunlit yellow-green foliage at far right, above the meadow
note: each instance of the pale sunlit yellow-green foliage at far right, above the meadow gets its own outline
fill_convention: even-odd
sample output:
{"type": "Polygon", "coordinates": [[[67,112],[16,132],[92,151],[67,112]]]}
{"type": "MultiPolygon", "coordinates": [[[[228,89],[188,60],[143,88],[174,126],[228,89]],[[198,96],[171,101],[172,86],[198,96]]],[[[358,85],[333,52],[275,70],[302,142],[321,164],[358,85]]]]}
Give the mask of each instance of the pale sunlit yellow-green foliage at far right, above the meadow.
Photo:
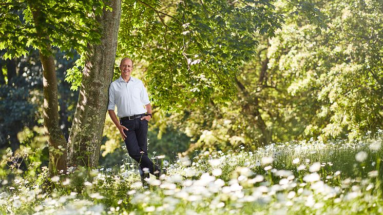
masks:
{"type": "Polygon", "coordinates": [[[322,34],[293,19],[270,42],[269,66],[299,100],[305,135],[350,137],[383,124],[383,14],[378,1],[323,5],[332,17],[322,34]],[[363,23],[363,25],[360,25],[363,23]],[[306,120],[307,119],[307,120],[306,120]]]}

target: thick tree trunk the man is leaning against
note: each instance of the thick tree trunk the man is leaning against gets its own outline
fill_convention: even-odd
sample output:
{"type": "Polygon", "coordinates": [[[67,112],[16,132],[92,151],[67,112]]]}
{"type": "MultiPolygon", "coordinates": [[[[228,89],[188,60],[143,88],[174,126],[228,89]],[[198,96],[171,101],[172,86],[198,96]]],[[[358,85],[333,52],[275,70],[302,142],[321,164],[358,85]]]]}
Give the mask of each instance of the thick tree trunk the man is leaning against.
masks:
{"type": "Polygon", "coordinates": [[[112,11],[104,11],[97,18],[102,28],[101,44],[89,47],[85,62],[68,140],[68,165],[97,167],[99,161],[121,17],[121,0],[111,0],[108,4],[112,11]]]}

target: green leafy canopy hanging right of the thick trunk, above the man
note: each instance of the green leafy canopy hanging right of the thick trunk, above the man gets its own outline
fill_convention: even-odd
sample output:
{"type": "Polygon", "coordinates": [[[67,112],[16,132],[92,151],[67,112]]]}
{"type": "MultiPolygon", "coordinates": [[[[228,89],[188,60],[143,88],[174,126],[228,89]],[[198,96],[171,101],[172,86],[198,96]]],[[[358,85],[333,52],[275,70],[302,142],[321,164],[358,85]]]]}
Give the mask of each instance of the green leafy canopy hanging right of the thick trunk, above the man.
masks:
{"type": "MultiPolygon", "coordinates": [[[[322,16],[313,5],[291,5],[319,23],[322,16]]],[[[212,98],[223,103],[235,97],[233,77],[255,56],[258,33],[274,36],[283,19],[269,1],[124,1],[117,54],[149,63],[151,100],[165,110],[205,105],[212,98]]]]}

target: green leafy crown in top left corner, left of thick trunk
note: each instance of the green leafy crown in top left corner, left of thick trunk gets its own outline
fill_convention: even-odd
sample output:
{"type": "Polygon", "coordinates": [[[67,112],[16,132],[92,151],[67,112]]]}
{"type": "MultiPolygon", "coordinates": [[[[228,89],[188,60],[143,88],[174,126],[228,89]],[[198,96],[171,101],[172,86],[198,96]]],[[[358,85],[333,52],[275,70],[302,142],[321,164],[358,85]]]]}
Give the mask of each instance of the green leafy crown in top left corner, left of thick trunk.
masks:
{"type": "Polygon", "coordinates": [[[30,48],[49,55],[50,45],[68,51],[68,57],[73,50],[83,53],[88,43],[99,42],[94,17],[104,7],[102,1],[88,0],[5,0],[0,9],[0,50],[6,49],[4,58],[26,55],[30,48]]]}

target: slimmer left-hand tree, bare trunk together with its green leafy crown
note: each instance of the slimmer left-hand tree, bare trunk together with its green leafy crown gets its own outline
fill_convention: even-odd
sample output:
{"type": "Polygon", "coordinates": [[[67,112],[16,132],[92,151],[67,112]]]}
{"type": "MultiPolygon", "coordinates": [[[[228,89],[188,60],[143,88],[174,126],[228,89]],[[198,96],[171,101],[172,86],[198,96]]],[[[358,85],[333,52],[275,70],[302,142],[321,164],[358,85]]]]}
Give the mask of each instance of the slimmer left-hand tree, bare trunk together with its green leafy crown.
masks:
{"type": "Polygon", "coordinates": [[[44,126],[50,151],[49,169],[66,169],[66,140],[59,127],[57,78],[52,46],[84,52],[87,42],[97,42],[97,23],[89,14],[99,15],[102,2],[95,1],[5,1],[0,49],[4,58],[39,50],[43,66],[44,126]]]}

